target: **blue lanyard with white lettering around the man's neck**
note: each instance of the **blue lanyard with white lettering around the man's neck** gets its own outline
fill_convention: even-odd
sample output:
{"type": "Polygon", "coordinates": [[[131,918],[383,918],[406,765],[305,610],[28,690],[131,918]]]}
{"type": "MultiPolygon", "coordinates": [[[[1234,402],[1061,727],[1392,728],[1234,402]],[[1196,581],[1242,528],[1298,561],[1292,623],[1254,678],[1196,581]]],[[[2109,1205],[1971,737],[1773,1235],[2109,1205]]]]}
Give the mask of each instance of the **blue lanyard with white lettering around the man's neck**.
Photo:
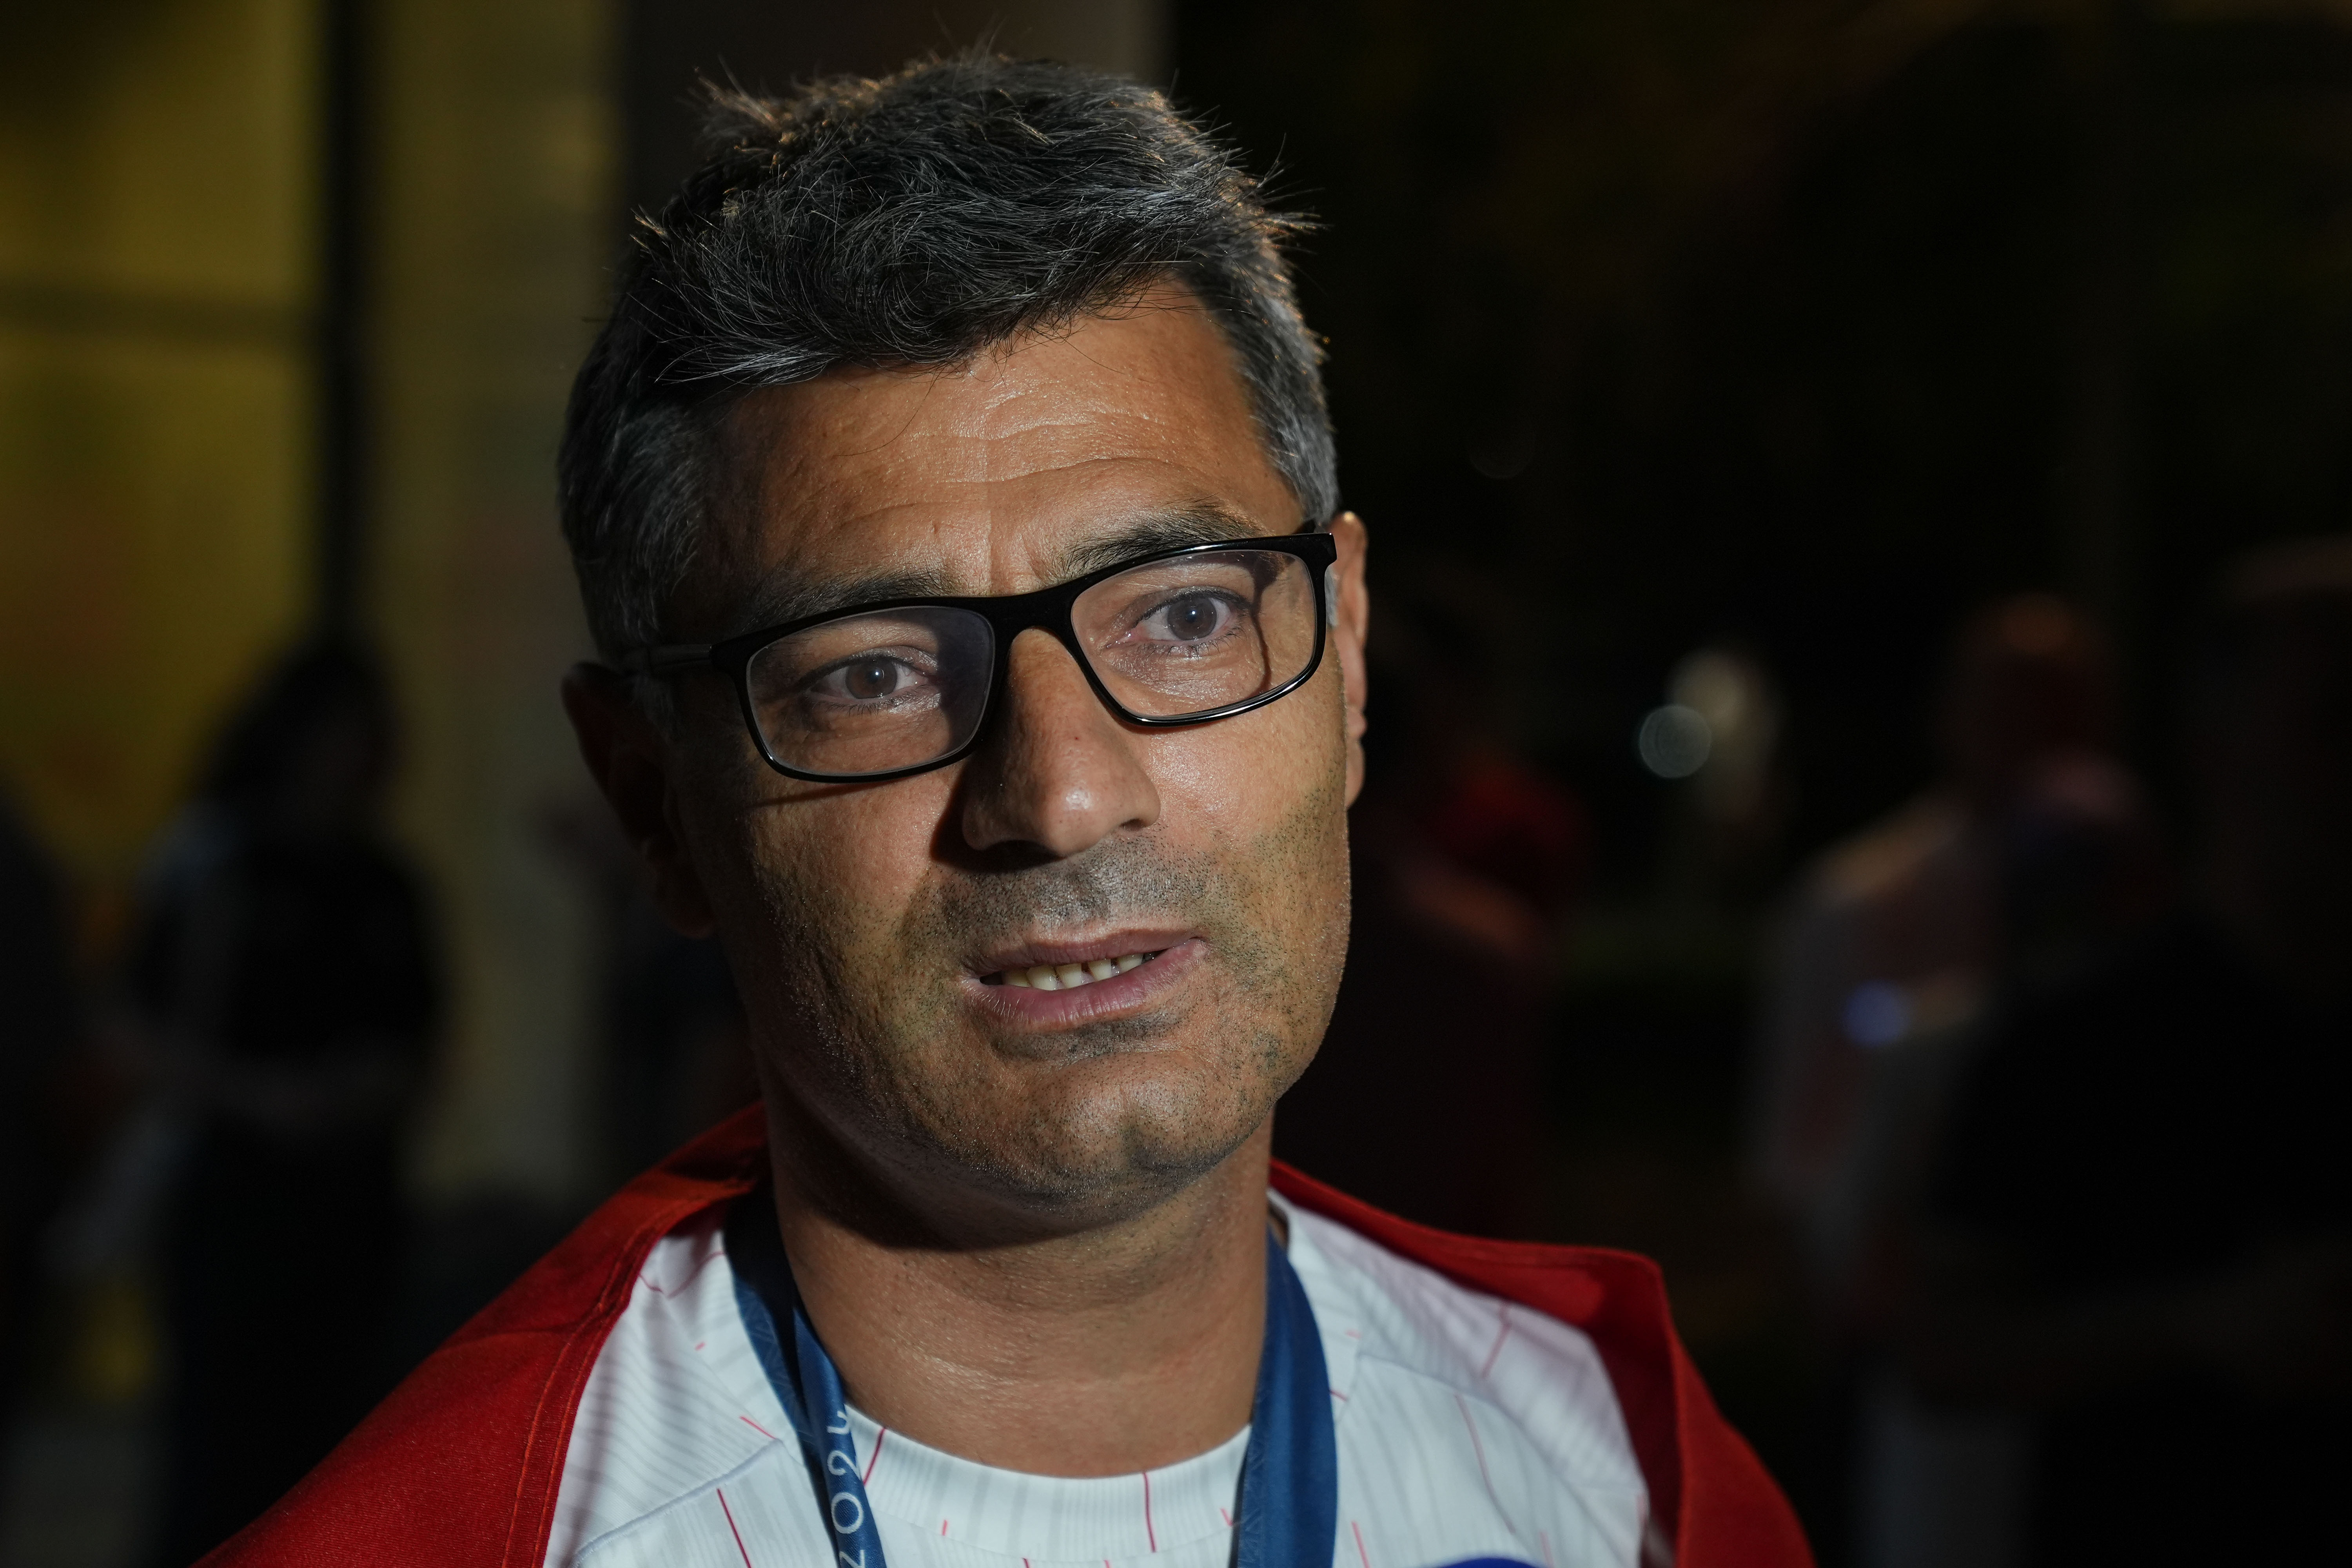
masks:
{"type": "MultiPolygon", "coordinates": [[[[736,1204],[727,1220],[736,1309],[793,1432],[800,1434],[840,1566],[884,1568],[882,1537],[866,1502],[856,1443],[849,1439],[842,1375],[809,1328],[769,1215],[774,1204],[762,1187],[736,1204]],[[776,1333],[774,1307],[790,1312],[790,1354],[776,1333]]],[[[1329,1563],[1338,1540],[1338,1446],[1331,1436],[1331,1380],[1324,1373],[1322,1335],[1298,1272],[1272,1234],[1265,1237],[1265,1347],[1249,1408],[1249,1453],[1242,1458],[1235,1523],[1235,1568],[1329,1563]]]]}

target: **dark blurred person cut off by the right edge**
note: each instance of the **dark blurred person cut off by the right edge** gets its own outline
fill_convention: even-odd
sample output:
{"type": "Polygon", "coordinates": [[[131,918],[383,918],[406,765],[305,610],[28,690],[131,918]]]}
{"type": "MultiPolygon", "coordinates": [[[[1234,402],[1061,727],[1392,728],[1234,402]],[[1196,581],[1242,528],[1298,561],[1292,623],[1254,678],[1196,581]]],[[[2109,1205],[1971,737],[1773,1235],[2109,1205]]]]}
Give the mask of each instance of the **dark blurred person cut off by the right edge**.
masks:
{"type": "Polygon", "coordinates": [[[1931,1190],[1910,1371],[2039,1415],[2032,1563],[2343,1556],[2352,541],[2232,581],[2192,764],[2192,905],[1999,1023],[1931,1190]]]}

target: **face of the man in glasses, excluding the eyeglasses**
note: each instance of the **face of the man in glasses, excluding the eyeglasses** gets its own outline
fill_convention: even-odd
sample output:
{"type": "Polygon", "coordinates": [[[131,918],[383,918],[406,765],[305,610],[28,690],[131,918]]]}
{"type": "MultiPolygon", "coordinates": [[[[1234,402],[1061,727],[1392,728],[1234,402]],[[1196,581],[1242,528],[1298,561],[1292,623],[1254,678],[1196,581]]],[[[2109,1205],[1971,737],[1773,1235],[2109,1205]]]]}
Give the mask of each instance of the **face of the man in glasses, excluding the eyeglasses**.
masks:
{"type": "MultiPolygon", "coordinates": [[[[1178,292],[953,371],[757,393],[729,447],[729,527],[677,604],[696,639],[1301,524],[1178,292]]],[[[673,917],[727,947],[771,1114],[781,1095],[901,1199],[971,1222],[1127,1213],[1249,1140],[1322,1039],[1348,938],[1362,527],[1338,536],[1315,679],[1211,724],[1120,722],[1030,630],[967,759],[818,785],[760,762],[722,677],[680,682],[642,837],[673,917]],[[1112,978],[1002,983],[1037,964],[1112,978]]]]}

